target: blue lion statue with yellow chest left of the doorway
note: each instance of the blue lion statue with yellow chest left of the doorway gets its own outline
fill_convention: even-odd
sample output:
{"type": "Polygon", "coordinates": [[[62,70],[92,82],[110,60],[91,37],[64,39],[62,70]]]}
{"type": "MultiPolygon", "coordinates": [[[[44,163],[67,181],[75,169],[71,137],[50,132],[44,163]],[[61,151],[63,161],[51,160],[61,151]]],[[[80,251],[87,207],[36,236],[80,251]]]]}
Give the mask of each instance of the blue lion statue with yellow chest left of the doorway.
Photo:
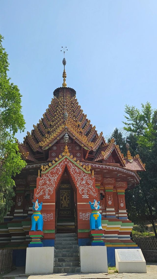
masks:
{"type": "Polygon", "coordinates": [[[43,228],[43,217],[40,213],[40,210],[42,210],[42,202],[38,203],[38,199],[35,203],[33,203],[33,214],[32,214],[32,227],[31,231],[42,231],[43,228]]]}

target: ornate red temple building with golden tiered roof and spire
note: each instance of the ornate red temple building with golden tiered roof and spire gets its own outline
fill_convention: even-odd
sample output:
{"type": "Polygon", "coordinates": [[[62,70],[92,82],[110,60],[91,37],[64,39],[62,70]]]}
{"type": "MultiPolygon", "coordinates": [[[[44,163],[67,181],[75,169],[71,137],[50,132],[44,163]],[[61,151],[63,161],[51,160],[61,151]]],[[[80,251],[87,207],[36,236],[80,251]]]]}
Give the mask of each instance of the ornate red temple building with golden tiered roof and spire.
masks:
{"type": "Polygon", "coordinates": [[[55,247],[57,234],[75,234],[78,246],[90,246],[89,201],[100,201],[103,234],[110,266],[114,249],[137,245],[125,207],[125,191],[139,184],[145,170],[139,158],[121,153],[114,139],[107,143],[90,123],[66,85],[54,90],[51,103],[23,143],[18,143],[27,165],[15,177],[15,205],[0,224],[1,248],[13,249],[16,266],[24,266],[27,247],[55,247]],[[43,202],[43,232],[31,235],[32,202],[43,202]]]}

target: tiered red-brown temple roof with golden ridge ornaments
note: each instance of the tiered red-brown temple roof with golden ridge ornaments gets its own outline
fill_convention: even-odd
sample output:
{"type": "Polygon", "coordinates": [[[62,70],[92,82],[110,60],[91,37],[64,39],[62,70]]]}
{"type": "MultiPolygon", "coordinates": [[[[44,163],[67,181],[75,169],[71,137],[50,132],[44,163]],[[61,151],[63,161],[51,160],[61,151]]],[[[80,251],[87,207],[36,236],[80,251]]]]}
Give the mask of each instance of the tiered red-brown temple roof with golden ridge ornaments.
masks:
{"type": "Polygon", "coordinates": [[[134,158],[124,158],[114,139],[110,143],[105,142],[102,132],[98,134],[95,126],[83,113],[75,95],[75,90],[67,87],[60,87],[54,91],[54,98],[49,108],[46,109],[39,123],[33,125],[34,129],[31,133],[27,132],[23,144],[19,144],[23,158],[27,162],[44,161],[45,150],[61,139],[66,130],[67,134],[86,150],[84,160],[107,163],[108,158],[113,154],[114,158],[117,158],[116,163],[122,167],[134,171],[145,170],[139,155],[134,158]],[[65,107],[68,114],[66,121],[65,107]]]}

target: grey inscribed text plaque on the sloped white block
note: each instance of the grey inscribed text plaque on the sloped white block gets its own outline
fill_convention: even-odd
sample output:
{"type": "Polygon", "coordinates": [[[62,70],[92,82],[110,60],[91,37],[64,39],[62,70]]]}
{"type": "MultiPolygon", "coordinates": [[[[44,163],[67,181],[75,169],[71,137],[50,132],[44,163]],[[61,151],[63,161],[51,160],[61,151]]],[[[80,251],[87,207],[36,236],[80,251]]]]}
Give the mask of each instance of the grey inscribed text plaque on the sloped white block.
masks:
{"type": "Polygon", "coordinates": [[[120,261],[143,261],[141,254],[136,249],[118,249],[120,261]]]}

